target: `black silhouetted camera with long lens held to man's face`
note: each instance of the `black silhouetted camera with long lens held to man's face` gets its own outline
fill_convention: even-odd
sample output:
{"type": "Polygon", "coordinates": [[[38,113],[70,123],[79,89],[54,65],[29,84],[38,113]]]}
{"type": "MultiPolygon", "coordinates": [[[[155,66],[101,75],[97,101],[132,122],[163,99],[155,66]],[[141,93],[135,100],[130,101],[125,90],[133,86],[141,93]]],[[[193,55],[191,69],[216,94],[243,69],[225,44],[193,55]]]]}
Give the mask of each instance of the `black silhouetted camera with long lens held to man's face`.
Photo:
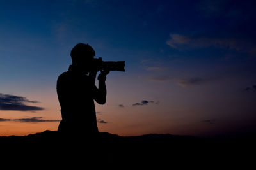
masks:
{"type": "Polygon", "coordinates": [[[109,71],[125,71],[125,62],[124,61],[102,61],[102,58],[94,58],[92,66],[93,70],[109,70],[109,71]]]}

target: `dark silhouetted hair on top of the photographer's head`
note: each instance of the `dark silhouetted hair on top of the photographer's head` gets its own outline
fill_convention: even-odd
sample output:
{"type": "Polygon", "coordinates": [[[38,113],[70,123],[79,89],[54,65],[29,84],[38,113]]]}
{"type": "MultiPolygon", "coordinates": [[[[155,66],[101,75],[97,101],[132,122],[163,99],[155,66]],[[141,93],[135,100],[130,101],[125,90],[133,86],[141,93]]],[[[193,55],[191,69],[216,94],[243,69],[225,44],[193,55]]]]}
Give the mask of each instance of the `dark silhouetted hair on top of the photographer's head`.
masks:
{"type": "Polygon", "coordinates": [[[71,50],[71,58],[72,61],[76,60],[80,57],[94,57],[95,51],[93,50],[92,46],[84,43],[78,43],[74,48],[71,50]]]}

